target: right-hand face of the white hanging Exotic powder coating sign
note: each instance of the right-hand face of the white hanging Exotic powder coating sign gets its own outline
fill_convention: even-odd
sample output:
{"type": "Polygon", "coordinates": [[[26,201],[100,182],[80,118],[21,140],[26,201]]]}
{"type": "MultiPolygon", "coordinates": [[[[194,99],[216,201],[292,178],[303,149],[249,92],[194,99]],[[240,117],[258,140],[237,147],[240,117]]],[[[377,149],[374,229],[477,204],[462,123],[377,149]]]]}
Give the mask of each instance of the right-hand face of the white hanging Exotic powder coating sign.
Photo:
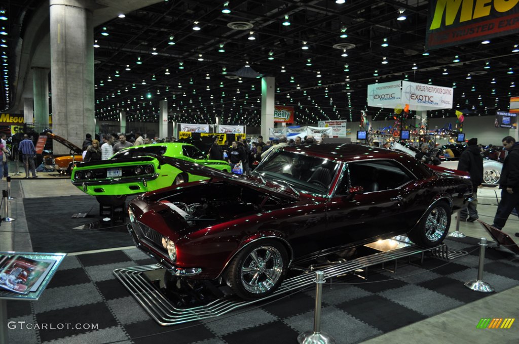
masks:
{"type": "Polygon", "coordinates": [[[454,89],[402,81],[402,100],[411,110],[435,110],[453,108],[454,89]]]}

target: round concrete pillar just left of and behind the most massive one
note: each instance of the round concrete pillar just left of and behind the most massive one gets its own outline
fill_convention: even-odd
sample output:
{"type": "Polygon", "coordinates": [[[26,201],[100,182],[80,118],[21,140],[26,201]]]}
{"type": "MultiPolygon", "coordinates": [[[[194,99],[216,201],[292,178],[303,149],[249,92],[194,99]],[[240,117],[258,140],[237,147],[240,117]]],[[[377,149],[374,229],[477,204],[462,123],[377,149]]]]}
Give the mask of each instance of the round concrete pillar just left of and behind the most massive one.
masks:
{"type": "Polygon", "coordinates": [[[49,68],[33,67],[34,124],[36,131],[49,126],[49,68]]]}

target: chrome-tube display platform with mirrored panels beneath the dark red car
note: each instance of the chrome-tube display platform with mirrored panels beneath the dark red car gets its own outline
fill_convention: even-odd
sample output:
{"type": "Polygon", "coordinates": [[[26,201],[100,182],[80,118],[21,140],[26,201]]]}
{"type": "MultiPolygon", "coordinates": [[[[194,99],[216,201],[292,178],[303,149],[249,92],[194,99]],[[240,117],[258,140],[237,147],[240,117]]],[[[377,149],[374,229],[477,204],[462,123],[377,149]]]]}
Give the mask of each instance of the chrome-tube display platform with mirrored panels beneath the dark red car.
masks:
{"type": "MultiPolygon", "coordinates": [[[[425,253],[446,261],[467,254],[448,249],[446,245],[435,248],[414,245],[406,237],[379,240],[347,252],[348,255],[357,256],[356,258],[352,256],[345,260],[340,255],[334,255],[329,260],[315,262],[308,267],[297,267],[289,271],[279,289],[256,300],[243,300],[232,295],[225,283],[176,279],[158,264],[116,269],[114,275],[158,324],[171,326],[220,317],[233,310],[306,289],[315,285],[313,271],[316,270],[322,271],[325,279],[354,274],[359,270],[365,273],[370,266],[388,262],[393,262],[396,270],[399,259],[408,257],[411,261],[412,256],[418,255],[418,263],[422,264],[425,253]]],[[[362,278],[369,279],[369,275],[364,274],[362,278]]]]}

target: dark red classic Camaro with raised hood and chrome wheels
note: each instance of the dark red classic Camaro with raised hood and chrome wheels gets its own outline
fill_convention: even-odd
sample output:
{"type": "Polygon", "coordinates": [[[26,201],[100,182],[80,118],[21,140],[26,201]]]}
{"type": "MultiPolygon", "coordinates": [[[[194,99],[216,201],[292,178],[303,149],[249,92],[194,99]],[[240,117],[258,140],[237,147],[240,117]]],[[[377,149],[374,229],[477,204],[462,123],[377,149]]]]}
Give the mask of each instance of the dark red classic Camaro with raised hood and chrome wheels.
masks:
{"type": "Polygon", "coordinates": [[[209,180],[146,193],[129,207],[136,246],[175,276],[263,297],[298,264],[407,234],[428,247],[472,194],[466,173],[359,145],[284,147],[242,177],[169,157],[209,180]]]}

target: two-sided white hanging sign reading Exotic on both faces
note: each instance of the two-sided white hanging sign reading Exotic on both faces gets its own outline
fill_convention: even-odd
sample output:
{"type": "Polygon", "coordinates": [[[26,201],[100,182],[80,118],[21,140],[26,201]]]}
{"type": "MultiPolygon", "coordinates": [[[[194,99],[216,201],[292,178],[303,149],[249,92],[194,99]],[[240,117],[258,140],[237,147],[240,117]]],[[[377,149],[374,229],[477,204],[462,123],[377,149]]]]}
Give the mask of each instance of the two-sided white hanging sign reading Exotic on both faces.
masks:
{"type": "Polygon", "coordinates": [[[452,109],[453,96],[453,88],[409,81],[376,83],[367,87],[367,105],[381,108],[452,109]]]}

